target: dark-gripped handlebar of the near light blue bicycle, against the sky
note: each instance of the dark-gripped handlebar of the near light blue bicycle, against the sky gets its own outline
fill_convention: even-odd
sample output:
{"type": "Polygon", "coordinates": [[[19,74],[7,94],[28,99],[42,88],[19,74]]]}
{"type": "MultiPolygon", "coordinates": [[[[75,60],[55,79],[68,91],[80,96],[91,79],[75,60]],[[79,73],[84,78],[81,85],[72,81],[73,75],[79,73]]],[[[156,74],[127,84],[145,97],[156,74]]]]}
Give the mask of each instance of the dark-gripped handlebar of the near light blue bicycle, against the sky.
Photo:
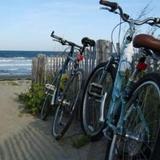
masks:
{"type": "MultiPolygon", "coordinates": [[[[160,18],[156,18],[156,17],[149,17],[146,18],[144,20],[134,20],[132,18],[130,18],[130,16],[126,13],[123,12],[123,9],[118,5],[118,3],[116,2],[110,2],[108,0],[100,0],[100,4],[106,6],[106,8],[109,10],[110,12],[119,14],[121,16],[121,18],[123,19],[123,21],[128,22],[128,23],[133,23],[135,25],[143,25],[143,24],[149,24],[149,25],[159,25],[160,24],[160,18]],[[119,12],[117,12],[116,10],[119,10],[119,12]]],[[[160,26],[157,26],[160,27],[160,26]]]]}

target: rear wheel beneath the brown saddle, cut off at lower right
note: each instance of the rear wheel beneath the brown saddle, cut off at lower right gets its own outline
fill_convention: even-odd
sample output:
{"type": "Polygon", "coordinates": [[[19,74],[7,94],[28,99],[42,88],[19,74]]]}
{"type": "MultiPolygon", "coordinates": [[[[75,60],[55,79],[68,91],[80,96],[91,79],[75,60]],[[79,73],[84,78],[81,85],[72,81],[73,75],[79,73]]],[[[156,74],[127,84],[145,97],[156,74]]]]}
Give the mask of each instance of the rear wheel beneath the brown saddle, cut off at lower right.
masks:
{"type": "Polygon", "coordinates": [[[108,160],[151,160],[159,141],[160,75],[148,74],[140,80],[126,105],[123,136],[114,135],[108,160]]]}

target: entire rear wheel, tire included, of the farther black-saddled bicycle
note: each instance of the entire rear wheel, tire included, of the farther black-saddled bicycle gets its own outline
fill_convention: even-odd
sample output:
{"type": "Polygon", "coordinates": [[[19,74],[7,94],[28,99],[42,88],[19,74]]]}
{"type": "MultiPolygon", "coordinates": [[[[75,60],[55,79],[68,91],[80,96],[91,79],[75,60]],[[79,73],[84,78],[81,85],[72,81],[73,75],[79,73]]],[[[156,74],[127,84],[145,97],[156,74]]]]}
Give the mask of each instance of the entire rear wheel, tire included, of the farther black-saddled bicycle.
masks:
{"type": "Polygon", "coordinates": [[[59,89],[57,109],[52,123],[52,134],[59,140],[69,128],[81,93],[83,71],[78,70],[67,77],[67,81],[59,89]]]}

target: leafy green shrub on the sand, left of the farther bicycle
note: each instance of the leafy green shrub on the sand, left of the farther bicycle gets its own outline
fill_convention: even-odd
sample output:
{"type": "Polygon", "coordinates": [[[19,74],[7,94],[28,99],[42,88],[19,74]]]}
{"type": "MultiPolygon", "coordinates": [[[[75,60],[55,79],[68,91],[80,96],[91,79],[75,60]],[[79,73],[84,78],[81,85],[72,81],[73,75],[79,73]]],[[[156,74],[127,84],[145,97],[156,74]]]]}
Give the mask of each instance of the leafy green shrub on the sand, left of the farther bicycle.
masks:
{"type": "Polygon", "coordinates": [[[33,83],[26,93],[19,95],[19,101],[24,104],[25,111],[37,114],[45,97],[44,85],[33,83]]]}

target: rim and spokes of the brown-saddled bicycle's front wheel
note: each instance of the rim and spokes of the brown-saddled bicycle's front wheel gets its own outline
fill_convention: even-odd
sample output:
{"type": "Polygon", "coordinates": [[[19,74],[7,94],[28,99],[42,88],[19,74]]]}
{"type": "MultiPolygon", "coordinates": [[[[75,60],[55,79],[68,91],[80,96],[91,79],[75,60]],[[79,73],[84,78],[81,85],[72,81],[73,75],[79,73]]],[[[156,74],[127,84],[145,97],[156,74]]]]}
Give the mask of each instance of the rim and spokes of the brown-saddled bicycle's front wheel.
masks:
{"type": "MultiPolygon", "coordinates": [[[[95,72],[92,74],[91,78],[88,81],[84,99],[83,99],[83,112],[82,112],[82,120],[83,120],[83,127],[87,135],[94,137],[100,134],[104,127],[104,123],[99,121],[100,118],[100,105],[101,103],[98,102],[97,99],[94,97],[91,98],[88,94],[89,85],[92,82],[98,83],[98,77],[101,76],[102,72],[104,70],[104,66],[99,67],[95,72]],[[97,103],[98,102],[98,103],[97,103]]],[[[105,92],[108,92],[107,98],[105,99],[105,113],[107,112],[107,106],[109,104],[109,98],[111,96],[111,91],[113,87],[113,77],[111,72],[107,73],[107,79],[106,81],[103,81],[102,86],[104,88],[103,95],[105,92]],[[107,84],[110,84],[110,87],[107,88],[107,84]],[[105,86],[105,87],[104,87],[105,86]]]]}

